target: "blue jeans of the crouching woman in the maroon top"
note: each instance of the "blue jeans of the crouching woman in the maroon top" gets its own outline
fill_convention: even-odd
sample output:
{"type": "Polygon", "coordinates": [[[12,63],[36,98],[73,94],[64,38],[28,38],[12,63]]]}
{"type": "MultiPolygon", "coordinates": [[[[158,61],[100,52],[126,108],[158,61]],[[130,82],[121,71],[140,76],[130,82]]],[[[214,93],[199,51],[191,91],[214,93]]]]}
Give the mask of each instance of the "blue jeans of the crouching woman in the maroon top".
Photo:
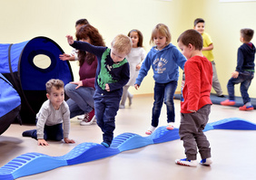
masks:
{"type": "Polygon", "coordinates": [[[64,86],[66,95],[70,98],[66,101],[70,110],[70,118],[91,112],[94,109],[94,88],[80,87],[68,83],[64,86]]]}

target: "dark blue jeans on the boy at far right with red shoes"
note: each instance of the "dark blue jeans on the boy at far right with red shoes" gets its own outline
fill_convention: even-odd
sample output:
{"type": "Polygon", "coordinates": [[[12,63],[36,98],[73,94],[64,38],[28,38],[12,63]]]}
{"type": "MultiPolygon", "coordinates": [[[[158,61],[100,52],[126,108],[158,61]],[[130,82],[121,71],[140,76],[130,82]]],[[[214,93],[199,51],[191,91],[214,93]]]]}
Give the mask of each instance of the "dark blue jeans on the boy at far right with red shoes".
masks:
{"type": "Polygon", "coordinates": [[[229,92],[229,99],[230,100],[235,100],[234,96],[234,85],[239,84],[240,85],[240,91],[241,91],[241,98],[243,100],[243,104],[247,102],[251,102],[251,99],[248,94],[248,89],[251,85],[251,80],[254,77],[254,72],[252,71],[243,71],[240,72],[237,78],[231,78],[230,81],[228,82],[228,92],[229,92]]]}

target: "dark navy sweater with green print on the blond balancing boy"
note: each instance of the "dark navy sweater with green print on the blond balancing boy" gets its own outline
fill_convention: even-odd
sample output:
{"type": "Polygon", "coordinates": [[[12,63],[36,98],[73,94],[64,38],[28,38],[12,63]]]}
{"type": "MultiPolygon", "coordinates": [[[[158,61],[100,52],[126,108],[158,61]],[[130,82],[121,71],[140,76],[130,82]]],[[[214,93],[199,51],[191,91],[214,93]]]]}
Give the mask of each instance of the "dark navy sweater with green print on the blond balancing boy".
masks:
{"type": "Polygon", "coordinates": [[[97,57],[98,67],[95,77],[95,93],[108,96],[122,96],[123,86],[129,81],[130,69],[126,59],[114,63],[111,58],[111,49],[103,46],[94,46],[90,43],[77,42],[71,45],[77,50],[94,53],[97,57]],[[110,91],[104,90],[105,84],[109,85],[110,91]]]}

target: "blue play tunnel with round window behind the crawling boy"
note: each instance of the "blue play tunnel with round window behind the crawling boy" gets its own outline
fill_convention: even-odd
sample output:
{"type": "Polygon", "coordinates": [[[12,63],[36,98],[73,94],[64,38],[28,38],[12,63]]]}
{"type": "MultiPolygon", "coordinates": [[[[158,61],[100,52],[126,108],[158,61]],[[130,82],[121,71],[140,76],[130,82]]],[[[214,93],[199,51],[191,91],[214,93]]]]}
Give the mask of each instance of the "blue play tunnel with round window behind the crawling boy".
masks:
{"type": "Polygon", "coordinates": [[[59,59],[62,53],[57,43],[44,36],[23,43],[0,43],[0,73],[21,98],[22,123],[35,123],[35,114],[46,100],[46,81],[74,81],[69,62],[59,59]]]}

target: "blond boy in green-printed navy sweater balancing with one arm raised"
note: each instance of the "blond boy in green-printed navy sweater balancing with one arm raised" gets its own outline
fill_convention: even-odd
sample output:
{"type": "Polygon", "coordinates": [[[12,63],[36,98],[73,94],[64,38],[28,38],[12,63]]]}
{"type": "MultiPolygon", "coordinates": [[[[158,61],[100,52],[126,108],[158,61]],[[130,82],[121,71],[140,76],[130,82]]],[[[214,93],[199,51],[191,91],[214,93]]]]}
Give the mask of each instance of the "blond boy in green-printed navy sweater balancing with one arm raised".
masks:
{"type": "Polygon", "coordinates": [[[103,131],[102,145],[110,147],[123,86],[129,81],[129,63],[125,57],[131,52],[132,40],[126,35],[119,34],[114,37],[110,49],[74,41],[71,35],[66,37],[68,43],[75,49],[94,53],[97,57],[98,67],[94,93],[95,116],[98,126],[103,131]]]}

